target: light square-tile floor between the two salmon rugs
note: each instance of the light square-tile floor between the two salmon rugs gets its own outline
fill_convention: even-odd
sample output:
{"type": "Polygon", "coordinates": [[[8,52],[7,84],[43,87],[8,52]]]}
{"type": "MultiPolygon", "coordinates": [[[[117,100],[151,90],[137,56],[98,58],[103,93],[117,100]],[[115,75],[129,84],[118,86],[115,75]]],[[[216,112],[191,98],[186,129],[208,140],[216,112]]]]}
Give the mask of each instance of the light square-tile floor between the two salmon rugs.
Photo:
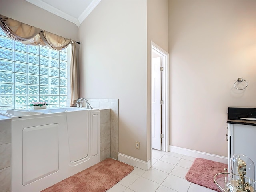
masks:
{"type": "Polygon", "coordinates": [[[215,192],[188,182],[185,175],[195,158],[152,150],[152,167],[134,170],[107,192],[215,192]]]}

